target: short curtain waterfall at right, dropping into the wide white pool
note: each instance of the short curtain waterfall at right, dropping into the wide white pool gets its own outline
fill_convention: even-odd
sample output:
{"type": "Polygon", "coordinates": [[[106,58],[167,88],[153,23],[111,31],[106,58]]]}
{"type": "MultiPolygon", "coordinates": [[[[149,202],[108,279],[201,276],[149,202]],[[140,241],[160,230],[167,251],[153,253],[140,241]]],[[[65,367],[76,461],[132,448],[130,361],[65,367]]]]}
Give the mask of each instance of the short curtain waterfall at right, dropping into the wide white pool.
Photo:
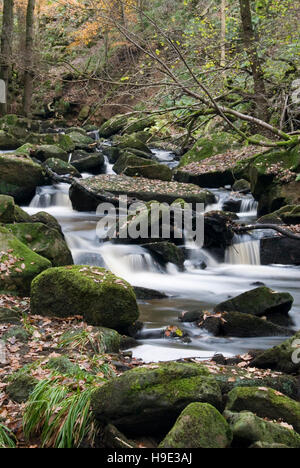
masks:
{"type": "Polygon", "coordinates": [[[233,245],[225,252],[225,263],[231,265],[260,265],[260,240],[235,235],[233,245]]]}

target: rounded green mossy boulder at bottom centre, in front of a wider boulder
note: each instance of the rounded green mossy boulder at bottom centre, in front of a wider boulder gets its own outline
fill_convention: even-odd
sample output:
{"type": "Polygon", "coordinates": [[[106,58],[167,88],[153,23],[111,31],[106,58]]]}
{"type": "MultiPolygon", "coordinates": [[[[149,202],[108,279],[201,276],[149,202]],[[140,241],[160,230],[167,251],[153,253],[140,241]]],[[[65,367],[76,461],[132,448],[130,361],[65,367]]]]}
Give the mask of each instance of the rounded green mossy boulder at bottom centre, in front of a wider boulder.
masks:
{"type": "Polygon", "coordinates": [[[191,403],[180,414],[159,448],[227,448],[232,432],[226,419],[207,403],[191,403]]]}

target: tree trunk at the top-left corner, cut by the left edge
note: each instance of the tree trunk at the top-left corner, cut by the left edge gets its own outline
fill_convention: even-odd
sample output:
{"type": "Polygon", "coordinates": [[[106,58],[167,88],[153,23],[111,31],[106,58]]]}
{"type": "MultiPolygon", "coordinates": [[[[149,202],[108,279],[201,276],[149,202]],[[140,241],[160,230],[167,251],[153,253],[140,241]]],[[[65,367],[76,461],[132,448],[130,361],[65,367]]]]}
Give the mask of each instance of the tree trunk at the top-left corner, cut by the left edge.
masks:
{"type": "Polygon", "coordinates": [[[8,83],[11,78],[11,56],[14,23],[14,0],[3,1],[3,23],[1,34],[1,70],[0,77],[5,83],[6,102],[0,103],[0,113],[7,113],[8,83]]]}

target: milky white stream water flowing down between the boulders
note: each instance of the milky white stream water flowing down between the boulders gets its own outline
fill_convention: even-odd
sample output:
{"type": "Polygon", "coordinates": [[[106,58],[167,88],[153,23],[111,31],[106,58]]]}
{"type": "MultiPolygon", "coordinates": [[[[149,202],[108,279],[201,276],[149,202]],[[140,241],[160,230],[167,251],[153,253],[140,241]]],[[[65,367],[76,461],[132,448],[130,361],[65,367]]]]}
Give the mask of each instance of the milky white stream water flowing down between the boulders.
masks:
{"type": "MultiPolygon", "coordinates": [[[[156,157],[167,164],[174,159],[170,153],[158,150],[156,157]]],[[[113,172],[107,160],[106,172],[113,172]]],[[[83,177],[88,176],[83,174],[83,177]]],[[[295,328],[300,328],[300,268],[260,265],[257,236],[237,236],[234,245],[227,249],[225,263],[218,263],[208,252],[189,246],[190,257],[185,262],[184,272],[178,271],[172,264],[163,270],[138,245],[101,243],[96,234],[99,218],[95,213],[74,211],[68,192],[68,184],[39,187],[30,206],[24,209],[29,214],[47,211],[57,218],[76,264],[106,266],[134,286],[167,294],[164,299],[140,301],[140,319],[145,327],[141,332],[140,346],[132,350],[135,357],[145,361],[183,357],[207,359],[217,352],[227,356],[235,355],[281,342],[284,337],[216,338],[193,324],[181,324],[178,321],[183,311],[211,310],[217,303],[253,289],[258,281],[274,290],[288,291],[294,296],[291,316],[295,328]],[[200,266],[203,260],[207,264],[204,270],[200,266]],[[187,331],[191,343],[162,338],[161,331],[169,325],[177,325],[187,331]]],[[[218,202],[207,210],[220,209],[230,194],[226,189],[214,192],[218,202]]],[[[245,211],[238,214],[240,219],[255,219],[256,204],[251,197],[247,196],[242,202],[241,210],[245,211]]]]}

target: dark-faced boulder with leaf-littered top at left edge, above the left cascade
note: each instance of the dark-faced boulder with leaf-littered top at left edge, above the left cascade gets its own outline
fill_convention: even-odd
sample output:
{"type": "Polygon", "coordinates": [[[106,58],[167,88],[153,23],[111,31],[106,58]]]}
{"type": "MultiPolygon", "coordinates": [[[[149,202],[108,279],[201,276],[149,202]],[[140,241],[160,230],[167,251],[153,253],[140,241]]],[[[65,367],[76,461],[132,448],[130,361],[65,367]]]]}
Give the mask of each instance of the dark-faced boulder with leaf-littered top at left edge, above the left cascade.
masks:
{"type": "Polygon", "coordinates": [[[0,154],[0,194],[10,195],[16,202],[24,203],[44,182],[43,168],[30,157],[0,154]]]}

